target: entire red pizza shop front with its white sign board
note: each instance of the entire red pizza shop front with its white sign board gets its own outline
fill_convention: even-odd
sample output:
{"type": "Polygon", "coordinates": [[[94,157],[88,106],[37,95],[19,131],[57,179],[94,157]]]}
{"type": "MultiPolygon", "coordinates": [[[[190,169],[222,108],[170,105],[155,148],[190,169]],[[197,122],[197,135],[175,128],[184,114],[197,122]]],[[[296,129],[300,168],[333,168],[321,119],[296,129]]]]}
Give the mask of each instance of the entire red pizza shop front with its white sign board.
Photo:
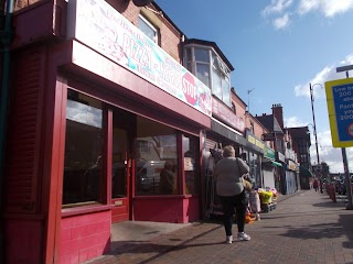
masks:
{"type": "Polygon", "coordinates": [[[211,128],[210,89],[106,2],[95,4],[108,15],[92,15],[93,2],[42,1],[14,15],[3,210],[6,263],[79,263],[109,250],[115,222],[184,223],[203,216],[200,175],[203,131],[211,128]],[[145,48],[139,57],[129,53],[124,37],[139,41],[130,43],[130,48],[145,48]],[[174,78],[163,78],[158,72],[162,66],[169,66],[174,78]],[[172,136],[163,138],[164,133],[172,136]],[[93,140],[97,138],[98,143],[93,140]],[[161,145],[138,142],[138,138],[164,142],[159,166],[173,156],[178,172],[173,194],[140,195],[138,150],[158,148],[160,156],[161,145]],[[189,147],[193,142],[191,156],[185,141],[189,147]],[[116,145],[122,152],[116,153],[116,145]],[[74,161],[67,158],[68,153],[77,147],[83,151],[75,158],[99,148],[94,156],[97,163],[89,167],[89,173],[101,176],[98,182],[94,173],[78,176],[81,168],[66,166],[74,161]],[[121,188],[113,179],[115,161],[122,166],[121,188]],[[188,178],[190,172],[192,178],[188,178]],[[89,185],[90,193],[65,193],[77,185],[65,183],[66,174],[77,180],[83,177],[87,183],[79,184],[89,185]]]}

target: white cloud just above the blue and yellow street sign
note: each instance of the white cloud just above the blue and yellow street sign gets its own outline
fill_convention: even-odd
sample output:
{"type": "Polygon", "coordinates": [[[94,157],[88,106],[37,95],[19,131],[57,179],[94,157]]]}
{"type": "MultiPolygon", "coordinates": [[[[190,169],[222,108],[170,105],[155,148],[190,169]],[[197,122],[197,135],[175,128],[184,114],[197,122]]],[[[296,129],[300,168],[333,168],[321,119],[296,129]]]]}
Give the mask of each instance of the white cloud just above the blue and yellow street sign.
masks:
{"type": "Polygon", "coordinates": [[[335,68],[340,66],[345,66],[345,65],[352,65],[353,64],[353,54],[347,55],[343,61],[340,63],[334,63],[331,66],[325,66],[321,72],[319,72],[315,77],[313,77],[311,80],[303,85],[297,85],[295,87],[295,95],[296,97],[310,97],[310,89],[309,89],[309,84],[312,85],[312,92],[313,96],[324,96],[324,89],[317,89],[317,84],[318,86],[321,85],[322,88],[324,88],[324,82],[329,80],[334,80],[334,79],[342,79],[342,74],[338,74],[335,68]],[[313,88],[313,85],[315,85],[313,88]]]}

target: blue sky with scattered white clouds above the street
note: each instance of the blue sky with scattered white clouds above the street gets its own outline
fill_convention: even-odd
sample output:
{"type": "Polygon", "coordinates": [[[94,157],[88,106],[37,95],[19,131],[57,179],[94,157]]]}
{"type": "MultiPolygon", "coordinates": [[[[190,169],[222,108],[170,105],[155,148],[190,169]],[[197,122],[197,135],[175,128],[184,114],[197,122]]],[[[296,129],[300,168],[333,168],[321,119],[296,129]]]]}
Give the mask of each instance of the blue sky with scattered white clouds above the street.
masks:
{"type": "MultiPolygon", "coordinates": [[[[345,78],[336,67],[353,65],[353,0],[156,2],[189,38],[217,44],[235,68],[231,85],[253,116],[271,114],[280,103],[285,127],[309,125],[315,164],[312,84],[320,162],[344,173],[342,148],[332,146],[324,82],[345,78]]],[[[353,172],[353,148],[345,150],[353,172]]]]}

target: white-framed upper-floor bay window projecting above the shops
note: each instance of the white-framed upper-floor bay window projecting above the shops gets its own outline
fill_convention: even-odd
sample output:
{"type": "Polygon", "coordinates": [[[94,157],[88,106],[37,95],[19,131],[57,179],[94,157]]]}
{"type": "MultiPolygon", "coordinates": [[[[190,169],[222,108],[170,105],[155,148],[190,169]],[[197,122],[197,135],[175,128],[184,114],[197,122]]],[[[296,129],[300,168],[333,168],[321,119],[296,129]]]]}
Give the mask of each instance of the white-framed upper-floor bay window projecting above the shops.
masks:
{"type": "Polygon", "coordinates": [[[231,103],[229,68],[211,46],[188,45],[184,53],[185,67],[228,107],[231,103]]]}

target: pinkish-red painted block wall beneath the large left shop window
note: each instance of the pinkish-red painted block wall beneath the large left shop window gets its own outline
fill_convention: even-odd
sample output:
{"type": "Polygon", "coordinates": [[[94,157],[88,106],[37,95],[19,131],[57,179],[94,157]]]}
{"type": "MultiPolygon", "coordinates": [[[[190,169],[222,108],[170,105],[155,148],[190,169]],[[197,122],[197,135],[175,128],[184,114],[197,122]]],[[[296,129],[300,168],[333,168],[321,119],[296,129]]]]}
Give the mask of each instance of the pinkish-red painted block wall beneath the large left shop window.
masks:
{"type": "Polygon", "coordinates": [[[82,263],[108,252],[110,219],[110,211],[63,218],[60,263],[82,263]]]}

